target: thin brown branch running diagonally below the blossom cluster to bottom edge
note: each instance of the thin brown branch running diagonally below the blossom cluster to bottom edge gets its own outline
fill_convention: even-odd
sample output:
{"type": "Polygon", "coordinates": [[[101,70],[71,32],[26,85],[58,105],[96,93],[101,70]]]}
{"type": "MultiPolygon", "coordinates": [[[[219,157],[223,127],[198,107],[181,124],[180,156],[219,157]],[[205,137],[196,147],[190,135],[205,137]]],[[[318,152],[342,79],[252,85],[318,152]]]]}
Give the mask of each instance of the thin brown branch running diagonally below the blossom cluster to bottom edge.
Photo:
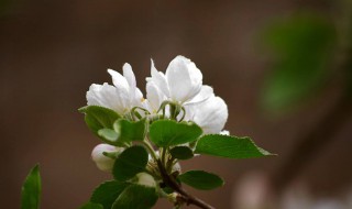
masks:
{"type": "Polygon", "coordinates": [[[186,190],[184,190],[180,187],[180,185],[175,180],[175,178],[167,174],[165,167],[163,166],[163,163],[160,160],[157,160],[157,166],[165,185],[169,186],[172,189],[178,193],[180,195],[179,198],[182,198],[183,201],[185,201],[187,205],[195,205],[202,209],[215,209],[212,206],[208,205],[201,199],[198,199],[197,197],[191,196],[186,190]]]}

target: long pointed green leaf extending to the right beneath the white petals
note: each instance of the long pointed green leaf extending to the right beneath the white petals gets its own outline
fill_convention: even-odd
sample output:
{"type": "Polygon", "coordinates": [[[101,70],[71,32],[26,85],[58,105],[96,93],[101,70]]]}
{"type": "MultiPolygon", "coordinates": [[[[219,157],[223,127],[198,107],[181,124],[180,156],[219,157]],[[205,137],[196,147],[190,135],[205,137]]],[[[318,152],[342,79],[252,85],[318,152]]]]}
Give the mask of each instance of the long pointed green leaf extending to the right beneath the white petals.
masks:
{"type": "Polygon", "coordinates": [[[195,153],[230,158],[251,158],[273,155],[256,146],[250,138],[210,134],[197,143],[195,153]]]}

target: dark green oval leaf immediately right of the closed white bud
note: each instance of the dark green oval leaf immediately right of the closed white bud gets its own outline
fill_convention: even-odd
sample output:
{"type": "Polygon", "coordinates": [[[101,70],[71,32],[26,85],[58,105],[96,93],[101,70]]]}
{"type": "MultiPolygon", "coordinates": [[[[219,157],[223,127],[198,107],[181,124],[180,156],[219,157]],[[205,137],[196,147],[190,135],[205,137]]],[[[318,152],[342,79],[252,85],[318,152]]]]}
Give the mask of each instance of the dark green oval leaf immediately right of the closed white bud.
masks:
{"type": "Polygon", "coordinates": [[[114,179],[124,182],[145,169],[147,152],[143,146],[131,146],[124,150],[113,164],[114,179]]]}

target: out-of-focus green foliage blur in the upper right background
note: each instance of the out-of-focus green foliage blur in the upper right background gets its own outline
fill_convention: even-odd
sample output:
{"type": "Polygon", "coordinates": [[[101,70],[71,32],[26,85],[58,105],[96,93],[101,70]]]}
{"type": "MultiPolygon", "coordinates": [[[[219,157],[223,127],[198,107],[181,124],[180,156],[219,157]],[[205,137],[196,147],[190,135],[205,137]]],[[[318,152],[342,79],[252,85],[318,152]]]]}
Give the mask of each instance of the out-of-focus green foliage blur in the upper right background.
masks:
{"type": "Polygon", "coordinates": [[[266,109],[293,108],[324,84],[336,44],[334,25],[327,19],[297,15],[277,22],[266,29],[264,42],[276,55],[263,91],[266,109]]]}

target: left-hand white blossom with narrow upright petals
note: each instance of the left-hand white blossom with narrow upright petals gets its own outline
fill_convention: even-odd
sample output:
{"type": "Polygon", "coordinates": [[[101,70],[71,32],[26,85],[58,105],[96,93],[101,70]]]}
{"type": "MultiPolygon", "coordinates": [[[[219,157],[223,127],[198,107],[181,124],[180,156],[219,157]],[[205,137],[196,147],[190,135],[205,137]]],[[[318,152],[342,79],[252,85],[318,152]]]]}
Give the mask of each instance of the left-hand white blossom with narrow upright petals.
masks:
{"type": "Polygon", "coordinates": [[[135,77],[130,64],[123,65],[123,76],[118,72],[108,69],[113,86],[92,84],[87,91],[88,106],[101,106],[124,114],[133,107],[141,107],[143,95],[135,85],[135,77]]]}

